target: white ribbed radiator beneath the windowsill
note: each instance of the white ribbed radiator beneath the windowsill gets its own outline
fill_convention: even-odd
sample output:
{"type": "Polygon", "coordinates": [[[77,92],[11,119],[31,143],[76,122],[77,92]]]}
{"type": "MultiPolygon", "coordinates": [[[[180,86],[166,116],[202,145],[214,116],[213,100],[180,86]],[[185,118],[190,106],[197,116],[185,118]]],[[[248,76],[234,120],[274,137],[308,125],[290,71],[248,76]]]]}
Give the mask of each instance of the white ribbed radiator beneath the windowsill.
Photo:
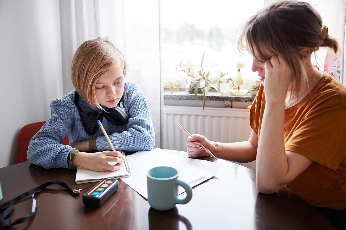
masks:
{"type": "MultiPolygon", "coordinates": [[[[189,133],[204,135],[211,141],[239,142],[248,140],[251,133],[247,109],[202,108],[186,106],[163,107],[163,148],[186,151],[188,137],[173,121],[189,133]]],[[[255,170],[256,161],[237,163],[255,170]]]]}

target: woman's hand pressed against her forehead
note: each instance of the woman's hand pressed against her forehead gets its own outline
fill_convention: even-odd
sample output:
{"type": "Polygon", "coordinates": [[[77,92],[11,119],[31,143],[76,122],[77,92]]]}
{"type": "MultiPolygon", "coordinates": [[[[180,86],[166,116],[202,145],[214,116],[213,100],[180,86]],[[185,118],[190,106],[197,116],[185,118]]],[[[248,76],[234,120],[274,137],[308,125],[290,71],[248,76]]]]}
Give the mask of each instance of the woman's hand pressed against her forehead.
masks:
{"type": "Polygon", "coordinates": [[[266,101],[285,101],[288,86],[293,79],[293,69],[282,55],[272,56],[265,62],[264,93],[266,101]]]}

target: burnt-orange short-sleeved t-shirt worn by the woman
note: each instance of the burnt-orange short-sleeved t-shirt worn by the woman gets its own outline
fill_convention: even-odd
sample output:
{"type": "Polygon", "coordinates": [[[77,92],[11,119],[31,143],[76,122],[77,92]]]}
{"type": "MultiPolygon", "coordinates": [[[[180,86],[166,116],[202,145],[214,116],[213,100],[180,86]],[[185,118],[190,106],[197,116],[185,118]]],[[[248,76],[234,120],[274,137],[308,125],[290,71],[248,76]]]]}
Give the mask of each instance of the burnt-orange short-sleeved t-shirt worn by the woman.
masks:
{"type": "MultiPolygon", "coordinates": [[[[263,85],[248,107],[251,128],[261,133],[263,85]]],[[[286,184],[316,207],[346,210],[346,87],[324,73],[311,92],[285,109],[285,150],[313,162],[286,184]]]]}

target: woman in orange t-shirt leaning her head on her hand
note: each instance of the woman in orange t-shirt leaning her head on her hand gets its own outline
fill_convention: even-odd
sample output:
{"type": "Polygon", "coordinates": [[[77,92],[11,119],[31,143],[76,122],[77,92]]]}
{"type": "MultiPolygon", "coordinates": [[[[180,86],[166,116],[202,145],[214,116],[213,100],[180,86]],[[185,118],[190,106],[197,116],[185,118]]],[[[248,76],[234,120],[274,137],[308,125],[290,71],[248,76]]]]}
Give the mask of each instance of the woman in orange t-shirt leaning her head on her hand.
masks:
{"type": "Polygon", "coordinates": [[[346,88],[311,64],[319,47],[338,44],[308,3],[275,1],[243,26],[239,49],[253,56],[262,80],[248,107],[248,141],[211,142],[193,134],[190,157],[256,160],[257,189],[286,186],[315,206],[337,228],[346,226],[346,88]]]}

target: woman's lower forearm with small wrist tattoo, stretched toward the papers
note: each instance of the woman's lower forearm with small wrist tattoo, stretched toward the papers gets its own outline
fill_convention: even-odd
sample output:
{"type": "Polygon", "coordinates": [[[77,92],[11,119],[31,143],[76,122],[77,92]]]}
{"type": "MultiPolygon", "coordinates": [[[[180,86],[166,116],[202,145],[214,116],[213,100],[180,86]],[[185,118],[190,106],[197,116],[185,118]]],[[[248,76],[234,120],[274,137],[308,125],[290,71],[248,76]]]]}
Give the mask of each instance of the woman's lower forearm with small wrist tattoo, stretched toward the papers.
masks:
{"type": "Polygon", "coordinates": [[[249,141],[234,143],[212,141],[211,144],[214,147],[214,152],[212,153],[218,158],[236,162],[256,160],[256,148],[249,141]]]}

